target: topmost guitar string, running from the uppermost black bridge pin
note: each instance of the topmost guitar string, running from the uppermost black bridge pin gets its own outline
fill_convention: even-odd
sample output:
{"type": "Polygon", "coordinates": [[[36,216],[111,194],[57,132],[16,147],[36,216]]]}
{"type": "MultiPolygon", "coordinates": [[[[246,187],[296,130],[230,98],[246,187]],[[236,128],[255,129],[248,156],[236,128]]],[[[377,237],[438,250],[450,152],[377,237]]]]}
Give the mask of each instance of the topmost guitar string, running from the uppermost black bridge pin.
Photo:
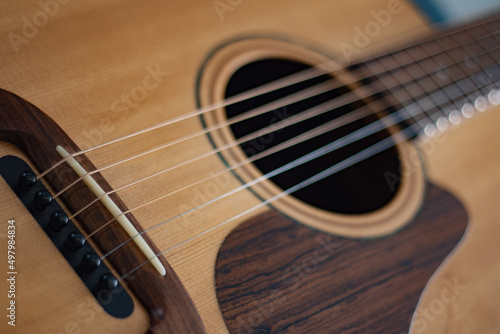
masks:
{"type": "MultiPolygon", "coordinates": [[[[415,45],[409,45],[409,46],[405,46],[403,48],[400,48],[399,50],[396,50],[395,52],[401,52],[401,51],[404,51],[404,50],[407,50],[407,49],[411,49],[412,47],[415,47],[416,45],[425,44],[425,43],[427,43],[429,41],[435,41],[435,40],[438,40],[440,38],[446,38],[446,37],[449,37],[449,36],[451,36],[453,34],[457,34],[457,33],[461,32],[461,31],[464,31],[466,29],[471,29],[471,28],[476,27],[476,26],[486,25],[486,24],[491,23],[492,21],[494,21],[496,19],[497,18],[492,17],[492,18],[489,18],[487,20],[476,22],[474,24],[470,24],[468,26],[465,26],[465,27],[462,27],[462,28],[459,28],[459,29],[449,30],[447,32],[445,31],[445,32],[443,32],[441,34],[438,34],[437,36],[434,36],[434,37],[431,37],[431,38],[427,37],[427,39],[425,39],[423,42],[416,43],[415,45]]],[[[408,34],[410,34],[410,32],[408,32],[408,34]]],[[[367,60],[369,60],[369,59],[367,59],[367,60]]],[[[364,60],[364,61],[366,61],[366,60],[364,60]]],[[[202,108],[196,109],[196,110],[194,110],[192,112],[180,115],[178,117],[174,117],[173,119],[170,119],[170,120],[167,120],[165,122],[153,125],[151,127],[147,127],[145,129],[132,132],[132,133],[130,133],[128,135],[125,135],[125,136],[122,136],[120,138],[116,138],[116,139],[110,140],[108,142],[96,145],[94,147],[91,147],[91,148],[88,148],[88,149],[85,149],[85,150],[80,150],[78,152],[70,153],[70,155],[68,157],[61,159],[59,162],[55,163],[52,167],[50,167],[46,171],[42,172],[41,174],[37,175],[37,179],[43,178],[45,175],[47,175],[49,172],[53,171],[55,168],[57,168],[58,166],[60,166],[62,163],[66,162],[67,160],[69,160],[71,158],[74,158],[74,157],[76,157],[78,155],[81,155],[81,154],[84,154],[84,153],[88,153],[90,151],[93,151],[93,150],[96,150],[96,149],[99,149],[99,148],[102,148],[102,147],[105,147],[105,146],[108,146],[108,145],[111,145],[111,144],[114,144],[114,143],[126,140],[126,139],[129,139],[129,138],[133,138],[133,137],[141,135],[143,133],[159,129],[159,128],[165,127],[167,125],[170,125],[170,124],[173,124],[173,123],[176,123],[176,122],[180,122],[182,120],[186,120],[186,119],[189,119],[189,118],[192,118],[192,117],[195,117],[195,116],[199,116],[199,115],[207,113],[209,111],[213,111],[213,110],[216,110],[216,109],[219,109],[219,108],[222,108],[222,107],[226,107],[228,105],[232,105],[232,104],[235,104],[235,103],[238,103],[238,102],[241,102],[241,101],[245,101],[247,99],[250,99],[250,98],[253,98],[253,97],[265,94],[265,93],[269,93],[269,92],[272,92],[272,91],[275,91],[275,90],[278,90],[278,89],[281,89],[281,88],[285,88],[285,87],[288,87],[290,85],[303,82],[305,80],[309,80],[309,79],[312,79],[312,78],[315,78],[315,77],[318,77],[318,76],[321,76],[321,75],[325,75],[325,74],[337,74],[336,71],[342,72],[342,71],[345,71],[345,69],[346,69],[346,68],[340,68],[340,69],[337,69],[336,71],[326,71],[327,73],[324,73],[325,69],[323,69],[323,67],[329,67],[332,64],[336,65],[333,61],[325,62],[325,63],[320,64],[318,66],[315,66],[313,68],[306,69],[304,71],[295,73],[295,74],[293,74],[293,75],[291,75],[289,77],[278,79],[276,81],[270,82],[270,83],[262,85],[260,87],[256,87],[254,89],[251,89],[249,91],[243,92],[241,94],[232,96],[232,97],[227,98],[227,99],[225,99],[223,101],[220,101],[220,102],[208,105],[206,107],[202,107],[202,108]],[[313,75],[312,73],[318,72],[318,69],[320,69],[319,70],[320,73],[313,75]],[[309,73],[309,72],[311,72],[311,73],[309,73]]],[[[360,63],[351,64],[349,66],[356,66],[356,65],[360,65],[360,64],[361,64],[361,62],[360,63]]]]}

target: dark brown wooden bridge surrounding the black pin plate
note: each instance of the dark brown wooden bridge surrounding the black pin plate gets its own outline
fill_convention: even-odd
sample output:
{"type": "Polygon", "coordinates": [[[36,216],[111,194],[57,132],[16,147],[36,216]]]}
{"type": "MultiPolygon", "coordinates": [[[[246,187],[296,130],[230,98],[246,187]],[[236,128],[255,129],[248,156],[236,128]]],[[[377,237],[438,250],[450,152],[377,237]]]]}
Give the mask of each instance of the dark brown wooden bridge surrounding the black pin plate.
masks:
{"type": "MultiPolygon", "coordinates": [[[[56,146],[61,145],[69,152],[80,151],[46,114],[5,90],[0,90],[0,139],[20,147],[39,173],[61,161],[61,157],[55,151],[56,146]]],[[[96,169],[85,155],[79,155],[76,159],[86,171],[96,169]]],[[[99,173],[93,174],[92,177],[105,192],[112,190],[99,173]]],[[[59,193],[67,185],[78,180],[78,175],[72,172],[71,167],[63,163],[53,172],[48,173],[43,180],[51,186],[54,193],[59,193]]],[[[128,210],[116,194],[110,194],[110,197],[122,212],[128,210]]],[[[79,182],[62,193],[59,198],[68,208],[68,215],[72,215],[92,203],[95,195],[83,182],[79,182]]],[[[127,214],[127,217],[139,233],[143,231],[133,215],[127,214]]],[[[76,221],[88,234],[96,231],[112,218],[107,208],[97,202],[79,214],[76,221]]],[[[116,221],[91,238],[101,255],[108,254],[123,244],[106,257],[119,279],[148,260],[134,243],[126,243],[129,239],[125,230],[120,228],[116,221]]],[[[160,253],[149,237],[145,236],[145,240],[155,254],[160,253]]],[[[161,256],[159,258],[167,270],[164,277],[156,272],[151,263],[146,263],[124,279],[149,313],[151,318],[149,331],[151,333],[204,333],[203,324],[189,295],[165,258],[161,256]]]]}

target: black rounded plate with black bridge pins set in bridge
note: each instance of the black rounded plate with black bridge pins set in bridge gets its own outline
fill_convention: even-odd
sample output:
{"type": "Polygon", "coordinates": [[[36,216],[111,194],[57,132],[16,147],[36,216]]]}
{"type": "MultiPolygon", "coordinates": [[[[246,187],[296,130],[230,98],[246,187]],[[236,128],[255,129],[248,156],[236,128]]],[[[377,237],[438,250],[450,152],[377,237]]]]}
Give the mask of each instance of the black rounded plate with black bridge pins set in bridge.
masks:
{"type": "Polygon", "coordinates": [[[93,249],[45,185],[22,159],[0,158],[0,175],[38,222],[68,264],[111,316],[126,318],[134,311],[128,292],[93,249]]]}

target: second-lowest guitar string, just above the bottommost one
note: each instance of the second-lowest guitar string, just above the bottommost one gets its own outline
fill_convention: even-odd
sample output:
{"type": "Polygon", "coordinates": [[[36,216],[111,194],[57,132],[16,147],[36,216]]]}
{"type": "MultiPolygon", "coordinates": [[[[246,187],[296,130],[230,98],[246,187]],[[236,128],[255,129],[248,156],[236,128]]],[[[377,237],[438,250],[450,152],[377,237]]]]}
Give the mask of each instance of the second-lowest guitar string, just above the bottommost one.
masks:
{"type": "MultiPolygon", "coordinates": [[[[500,68],[500,65],[497,64],[496,66],[500,68]]],[[[463,79],[463,80],[465,80],[465,79],[463,79]]],[[[460,84],[461,81],[462,80],[458,81],[458,84],[460,84]]],[[[480,91],[484,87],[491,86],[491,85],[494,85],[494,84],[496,84],[496,82],[488,83],[487,85],[483,85],[483,86],[481,86],[479,88],[474,88],[472,91],[469,92],[469,94],[472,94],[472,93],[474,93],[476,91],[480,91]]],[[[439,91],[436,92],[436,93],[439,93],[439,91]]],[[[436,94],[436,93],[434,93],[434,94],[436,94]]],[[[432,95],[434,95],[434,94],[431,94],[430,97],[432,95]]],[[[465,100],[467,100],[469,97],[470,96],[466,97],[465,100]]],[[[461,98],[463,99],[463,97],[461,97],[461,98]]],[[[352,132],[352,133],[350,133],[350,134],[348,134],[348,135],[346,135],[346,136],[344,136],[342,138],[339,138],[339,139],[333,141],[332,143],[329,143],[329,144],[327,144],[327,145],[325,145],[325,146],[323,146],[323,147],[321,147],[321,148],[319,148],[319,149],[317,149],[317,150],[315,150],[315,151],[313,151],[313,152],[311,152],[311,153],[309,153],[309,154],[307,154],[307,155],[305,155],[305,156],[303,156],[301,158],[298,158],[298,159],[296,159],[296,160],[294,160],[294,161],[292,161],[292,162],[290,162],[290,163],[288,163],[288,164],[286,164],[284,166],[281,166],[278,169],[275,169],[275,170],[273,170],[273,171],[271,171],[271,172],[269,172],[269,173],[267,173],[267,174],[265,174],[265,175],[263,175],[263,176],[261,176],[259,178],[256,178],[256,179],[254,179],[254,180],[252,180],[252,181],[250,181],[250,182],[248,182],[248,183],[246,183],[246,184],[244,184],[242,186],[239,186],[239,187],[237,187],[237,188],[235,188],[235,189],[233,189],[233,190],[231,190],[231,191],[229,191],[229,192],[227,192],[227,193],[225,193],[225,194],[223,194],[223,195],[221,195],[221,196],[219,196],[219,197],[217,197],[215,199],[212,199],[212,200],[210,200],[208,202],[205,202],[204,204],[201,204],[201,205],[199,205],[199,206],[197,206],[197,207],[195,207],[195,208],[193,208],[191,210],[188,210],[188,211],[186,211],[186,212],[184,212],[182,214],[179,214],[179,215],[177,215],[175,217],[172,217],[172,218],[170,218],[170,219],[168,219],[168,220],[166,220],[166,221],[164,221],[164,222],[162,222],[160,224],[157,224],[157,225],[155,225],[155,226],[153,226],[151,228],[148,228],[148,229],[146,229],[146,230],[138,233],[136,236],[142,235],[142,234],[144,234],[146,232],[149,232],[149,231],[151,231],[151,230],[153,230],[155,228],[163,226],[164,224],[166,224],[166,223],[168,223],[168,222],[170,222],[172,220],[175,220],[175,219],[180,218],[180,217],[182,217],[182,216],[184,216],[186,214],[194,212],[195,210],[198,210],[198,209],[200,209],[202,207],[205,207],[206,205],[214,203],[214,202],[216,202],[216,201],[218,201],[220,199],[226,198],[226,197],[228,197],[228,196],[230,196],[230,195],[232,195],[234,193],[237,193],[237,192],[239,192],[239,191],[241,191],[243,189],[247,189],[247,188],[249,188],[249,187],[251,187],[251,186],[253,186],[253,185],[257,184],[257,183],[260,183],[260,182],[262,182],[264,180],[267,180],[267,179],[272,178],[272,177],[274,177],[274,176],[276,176],[278,174],[281,174],[281,173],[283,173],[285,171],[288,171],[288,170],[290,170],[292,168],[295,168],[295,167],[297,167],[299,165],[302,165],[302,164],[304,164],[304,163],[306,163],[308,161],[311,161],[312,159],[316,159],[316,158],[318,158],[320,156],[323,156],[323,155],[325,155],[327,153],[330,153],[330,152],[332,152],[334,150],[337,150],[337,149],[339,149],[341,147],[344,147],[345,145],[349,145],[349,144],[351,144],[351,143],[353,143],[353,142],[355,142],[357,140],[360,140],[362,138],[366,138],[369,135],[375,134],[375,133],[377,133],[377,132],[379,132],[379,131],[381,131],[383,129],[387,129],[387,128],[393,126],[393,125],[396,125],[396,124],[399,124],[401,122],[404,122],[405,120],[407,120],[410,117],[409,116],[402,116],[401,114],[403,112],[405,112],[406,109],[409,108],[410,106],[407,106],[407,107],[405,107],[405,108],[403,108],[403,109],[401,109],[401,110],[399,110],[399,111],[397,111],[395,113],[389,114],[389,115],[387,115],[387,116],[385,116],[385,117],[383,117],[383,118],[381,118],[381,119],[379,119],[379,120],[377,120],[377,121],[375,121],[375,122],[373,122],[373,123],[371,123],[369,125],[366,125],[365,127],[362,127],[362,128],[360,128],[360,129],[358,129],[358,130],[356,130],[356,131],[354,131],[354,132],[352,132]],[[394,119],[395,116],[397,117],[397,119],[394,119]],[[341,141],[344,141],[344,143],[341,143],[341,141]],[[347,144],[345,143],[345,141],[347,141],[347,144]]],[[[440,105],[436,105],[435,108],[437,108],[438,112],[439,112],[440,105]]],[[[424,112],[422,111],[421,113],[423,114],[424,112]]],[[[417,123],[415,123],[415,124],[417,124],[417,123]]],[[[414,125],[412,125],[412,127],[413,126],[414,125]]],[[[107,253],[106,255],[104,255],[102,258],[107,257],[108,255],[110,255],[111,253],[113,253],[114,251],[116,251],[117,249],[121,248],[123,245],[125,245],[129,241],[133,240],[136,236],[134,236],[134,237],[128,239],[127,241],[123,242],[122,244],[118,245],[116,248],[114,248],[113,250],[111,250],[109,253],[107,253]]]]}

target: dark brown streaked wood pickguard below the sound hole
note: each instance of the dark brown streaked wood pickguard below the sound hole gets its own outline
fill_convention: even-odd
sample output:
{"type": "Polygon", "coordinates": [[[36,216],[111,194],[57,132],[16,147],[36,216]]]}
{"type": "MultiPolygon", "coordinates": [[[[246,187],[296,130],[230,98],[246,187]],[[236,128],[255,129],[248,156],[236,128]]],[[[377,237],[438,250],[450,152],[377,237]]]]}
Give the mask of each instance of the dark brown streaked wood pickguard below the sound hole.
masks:
{"type": "Polygon", "coordinates": [[[433,184],[383,238],[330,236],[277,211],[225,239],[216,290],[230,333],[407,333],[422,291],[462,238],[464,207],[433,184]]]}

